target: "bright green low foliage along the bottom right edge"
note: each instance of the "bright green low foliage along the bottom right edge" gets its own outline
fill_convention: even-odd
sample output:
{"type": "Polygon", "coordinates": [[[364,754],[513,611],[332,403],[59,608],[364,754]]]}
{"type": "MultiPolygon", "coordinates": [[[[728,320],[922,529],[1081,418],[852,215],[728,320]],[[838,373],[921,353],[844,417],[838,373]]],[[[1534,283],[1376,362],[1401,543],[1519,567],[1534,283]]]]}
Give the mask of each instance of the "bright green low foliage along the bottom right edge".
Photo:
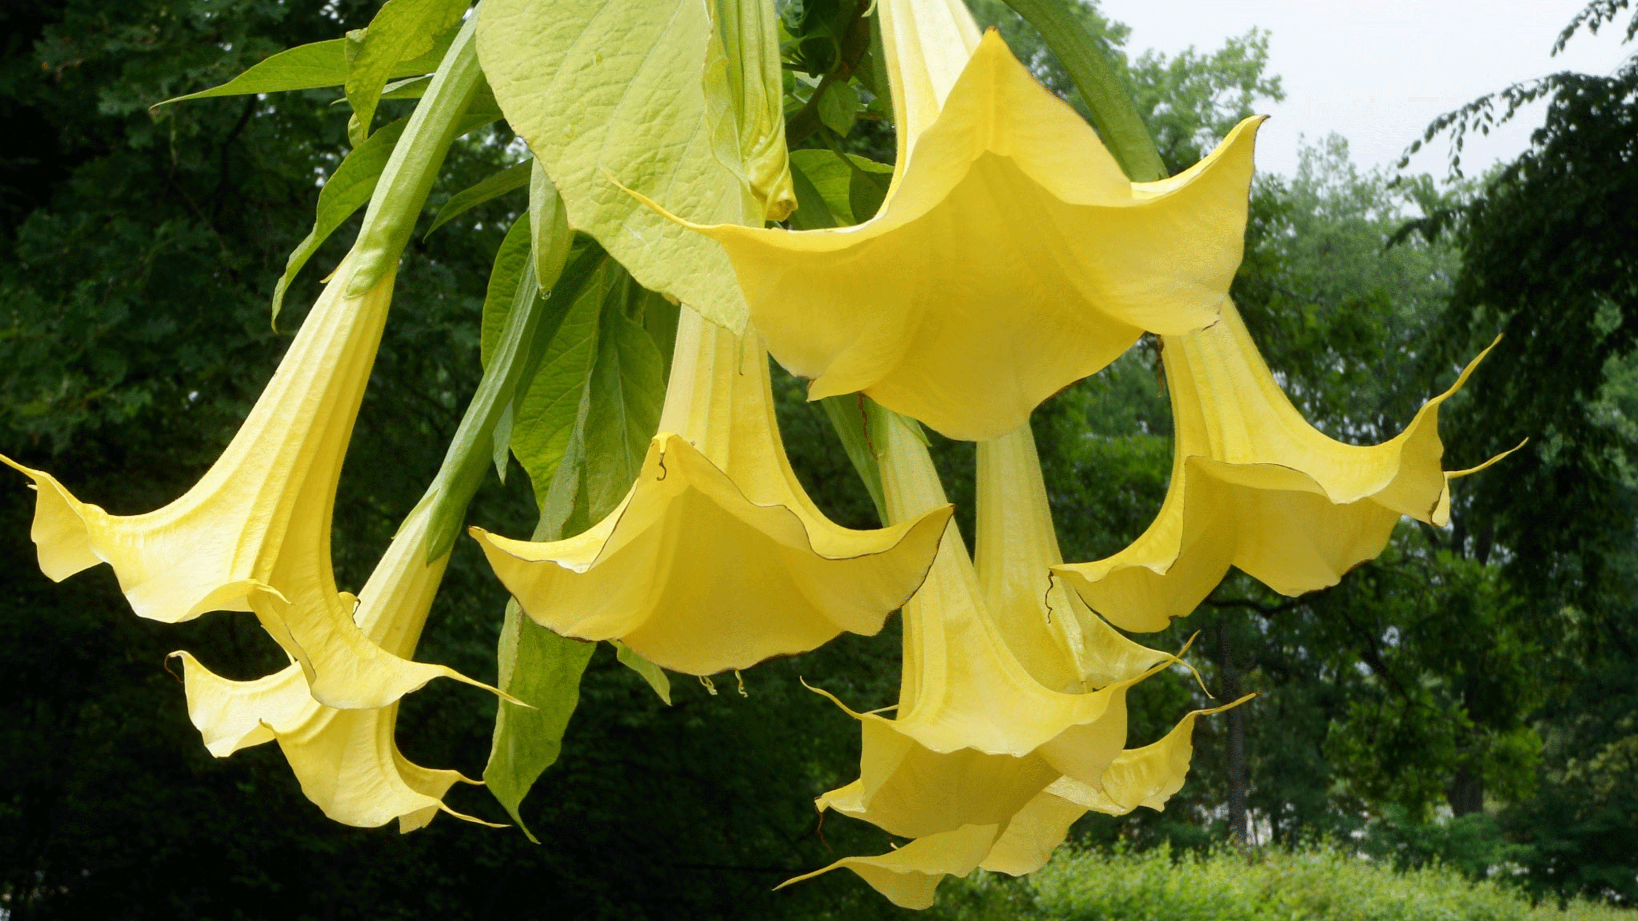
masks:
{"type": "Polygon", "coordinates": [[[1638,921],[1584,901],[1532,906],[1494,880],[1446,867],[1396,872],[1340,849],[1174,855],[1061,849],[1022,880],[975,873],[942,887],[950,921],[1638,921]]]}

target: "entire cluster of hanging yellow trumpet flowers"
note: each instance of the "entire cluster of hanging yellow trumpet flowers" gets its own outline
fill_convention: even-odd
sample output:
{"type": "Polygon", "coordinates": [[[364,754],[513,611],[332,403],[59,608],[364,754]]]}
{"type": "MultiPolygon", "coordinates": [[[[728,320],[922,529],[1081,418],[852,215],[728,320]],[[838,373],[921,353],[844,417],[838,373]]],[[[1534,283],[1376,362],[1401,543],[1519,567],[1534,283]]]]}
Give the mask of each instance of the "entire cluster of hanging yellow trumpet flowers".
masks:
{"type": "MultiPolygon", "coordinates": [[[[560,541],[472,534],[536,623],[618,639],[695,675],[842,631],[875,634],[903,610],[898,705],[848,711],[863,734],[860,775],[817,805],[911,839],[826,870],[847,867],[922,908],[945,875],[1038,869],[1086,811],[1163,808],[1188,774],[1196,719],[1242,701],[1188,713],[1158,742],[1127,749],[1129,688],[1181,665],[1181,652],[1115,628],[1163,629],[1230,565],[1296,595],[1379,554],[1400,516],[1443,524],[1448,480],[1463,474],[1441,469],[1437,416],[1450,393],[1381,446],[1309,426],[1227,297],[1258,120],[1184,174],[1129,182],[960,0],[876,3],[899,144],[876,216],[822,231],[762,226],[793,200],[775,26],[765,3],[727,7],[713,13],[708,67],[739,108],[713,97],[713,143],[737,157],[744,200],[762,213],[688,226],[721,244],[750,324],[731,331],[681,308],[658,431],[608,516],[560,541]],[[1065,564],[1029,416],[1143,333],[1163,343],[1171,490],[1130,547],[1065,564]],[[770,352],[812,380],[812,398],[862,392],[880,403],[865,424],[885,528],[840,528],[803,492],[775,424],[770,352]],[[973,556],[916,420],[980,442],[973,556]]],[[[434,677],[477,683],[411,660],[447,562],[426,559],[437,490],[357,597],[336,587],[329,529],[400,225],[413,226],[428,170],[482,80],[475,23],[428,88],[359,246],[198,485],[157,511],[115,516],[0,457],[39,490],[33,538],[51,578],[106,562],[139,616],[257,616],[292,664],[231,682],[179,652],[188,713],[218,757],[277,741],[303,792],[349,824],[421,828],[464,780],[410,764],[393,741],[400,696],[434,677]],[[446,102],[454,116],[437,121],[446,102]],[[410,216],[398,208],[398,225],[375,233],[395,197],[414,200],[410,216]]],[[[575,205],[577,190],[562,192],[575,205]]]]}

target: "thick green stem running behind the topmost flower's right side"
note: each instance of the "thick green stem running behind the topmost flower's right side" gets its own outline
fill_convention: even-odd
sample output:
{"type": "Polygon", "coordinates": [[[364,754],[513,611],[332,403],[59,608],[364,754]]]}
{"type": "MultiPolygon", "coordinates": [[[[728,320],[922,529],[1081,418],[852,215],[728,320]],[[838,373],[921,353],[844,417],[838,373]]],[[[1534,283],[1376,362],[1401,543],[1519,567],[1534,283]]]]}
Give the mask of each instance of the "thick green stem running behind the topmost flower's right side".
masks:
{"type": "Polygon", "coordinates": [[[1160,159],[1155,138],[1132,105],[1132,97],[1120,84],[1109,56],[1076,21],[1073,0],[1007,0],[1007,5],[1035,26],[1063,62],[1070,79],[1075,80],[1075,88],[1081,90],[1086,108],[1093,111],[1097,134],[1127,179],[1132,182],[1166,179],[1166,164],[1160,159]]]}

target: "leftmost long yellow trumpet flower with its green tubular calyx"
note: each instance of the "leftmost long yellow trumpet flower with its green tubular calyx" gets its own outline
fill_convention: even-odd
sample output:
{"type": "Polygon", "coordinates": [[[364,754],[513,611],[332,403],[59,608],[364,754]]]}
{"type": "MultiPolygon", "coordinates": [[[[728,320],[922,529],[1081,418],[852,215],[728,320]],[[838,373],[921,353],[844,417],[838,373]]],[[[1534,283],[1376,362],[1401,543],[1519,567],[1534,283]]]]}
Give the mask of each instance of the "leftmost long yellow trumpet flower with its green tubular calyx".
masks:
{"type": "Polygon", "coordinates": [[[380,708],[436,677],[470,682],[364,636],[351,598],[336,588],[329,523],[398,254],[482,79],[468,23],[400,138],[352,252],[239,433],[182,498],[146,515],[110,515],[51,474],[0,457],[34,480],[31,536],[48,577],[61,582],[106,562],[133,611],[167,623],[254,611],[300,662],[313,696],[331,706],[380,708]]]}

